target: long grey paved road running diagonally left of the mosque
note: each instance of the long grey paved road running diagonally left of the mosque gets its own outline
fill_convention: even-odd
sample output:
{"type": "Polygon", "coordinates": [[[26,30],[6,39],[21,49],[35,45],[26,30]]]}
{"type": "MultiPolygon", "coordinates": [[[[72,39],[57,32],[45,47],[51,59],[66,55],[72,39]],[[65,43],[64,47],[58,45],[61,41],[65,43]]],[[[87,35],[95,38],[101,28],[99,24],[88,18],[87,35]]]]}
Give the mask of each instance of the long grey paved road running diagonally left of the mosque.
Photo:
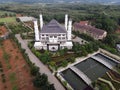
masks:
{"type": "Polygon", "coordinates": [[[40,73],[45,73],[48,76],[48,81],[51,84],[54,84],[56,90],[65,90],[64,87],[61,85],[61,83],[57,80],[57,78],[50,72],[50,70],[45,66],[28,48],[27,44],[24,42],[24,40],[20,37],[20,34],[15,35],[15,37],[18,39],[19,43],[21,43],[21,46],[23,49],[26,50],[26,53],[28,54],[30,60],[32,63],[35,63],[37,67],[40,68],[40,73]]]}

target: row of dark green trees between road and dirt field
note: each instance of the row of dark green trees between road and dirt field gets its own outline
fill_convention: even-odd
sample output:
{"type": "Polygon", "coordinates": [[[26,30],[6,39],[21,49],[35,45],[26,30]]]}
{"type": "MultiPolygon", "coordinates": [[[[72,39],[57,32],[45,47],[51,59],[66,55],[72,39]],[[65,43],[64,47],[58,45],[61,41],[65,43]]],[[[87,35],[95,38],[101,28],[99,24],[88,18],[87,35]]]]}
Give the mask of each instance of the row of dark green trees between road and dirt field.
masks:
{"type": "MultiPolygon", "coordinates": [[[[39,68],[36,67],[30,60],[28,55],[25,53],[25,50],[21,48],[21,44],[18,42],[18,40],[15,38],[14,34],[11,33],[10,37],[17,43],[19,49],[21,50],[26,62],[28,63],[31,75],[34,76],[33,84],[35,87],[39,88],[40,90],[55,90],[53,84],[49,84],[48,77],[45,74],[41,74],[39,72],[39,68]]],[[[12,76],[13,77],[13,76],[12,76]]],[[[16,88],[14,89],[16,90],[16,88]]]]}

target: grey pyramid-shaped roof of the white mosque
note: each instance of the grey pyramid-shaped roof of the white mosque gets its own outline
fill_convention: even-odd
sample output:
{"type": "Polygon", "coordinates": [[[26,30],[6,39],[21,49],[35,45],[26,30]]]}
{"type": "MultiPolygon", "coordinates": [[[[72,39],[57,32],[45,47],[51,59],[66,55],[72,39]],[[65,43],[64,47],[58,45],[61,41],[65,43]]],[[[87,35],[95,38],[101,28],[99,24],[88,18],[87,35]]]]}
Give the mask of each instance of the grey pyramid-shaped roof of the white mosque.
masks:
{"type": "Polygon", "coordinates": [[[44,25],[40,33],[67,33],[64,26],[60,25],[55,19],[44,25]]]}

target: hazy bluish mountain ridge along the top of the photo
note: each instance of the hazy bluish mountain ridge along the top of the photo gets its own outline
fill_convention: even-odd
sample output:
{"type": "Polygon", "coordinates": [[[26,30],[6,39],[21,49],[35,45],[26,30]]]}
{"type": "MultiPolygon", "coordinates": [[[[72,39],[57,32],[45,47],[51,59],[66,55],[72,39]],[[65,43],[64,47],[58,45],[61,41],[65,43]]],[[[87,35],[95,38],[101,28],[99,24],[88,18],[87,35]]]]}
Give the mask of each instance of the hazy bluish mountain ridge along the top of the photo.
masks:
{"type": "Polygon", "coordinates": [[[99,4],[118,4],[119,0],[0,0],[0,3],[99,3],[99,4]]]}

